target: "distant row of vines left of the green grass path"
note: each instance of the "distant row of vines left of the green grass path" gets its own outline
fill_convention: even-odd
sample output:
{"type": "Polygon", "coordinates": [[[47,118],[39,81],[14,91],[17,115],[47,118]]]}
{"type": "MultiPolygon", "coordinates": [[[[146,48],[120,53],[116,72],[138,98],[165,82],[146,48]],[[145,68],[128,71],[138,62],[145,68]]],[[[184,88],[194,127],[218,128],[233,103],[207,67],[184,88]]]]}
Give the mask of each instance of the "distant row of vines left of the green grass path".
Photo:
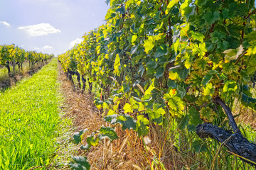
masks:
{"type": "Polygon", "coordinates": [[[10,65],[15,70],[16,64],[18,69],[22,70],[22,64],[29,62],[29,67],[33,67],[38,62],[43,62],[53,57],[53,55],[43,54],[42,52],[26,51],[15,45],[0,45],[0,65],[8,69],[11,73],[10,65]]]}

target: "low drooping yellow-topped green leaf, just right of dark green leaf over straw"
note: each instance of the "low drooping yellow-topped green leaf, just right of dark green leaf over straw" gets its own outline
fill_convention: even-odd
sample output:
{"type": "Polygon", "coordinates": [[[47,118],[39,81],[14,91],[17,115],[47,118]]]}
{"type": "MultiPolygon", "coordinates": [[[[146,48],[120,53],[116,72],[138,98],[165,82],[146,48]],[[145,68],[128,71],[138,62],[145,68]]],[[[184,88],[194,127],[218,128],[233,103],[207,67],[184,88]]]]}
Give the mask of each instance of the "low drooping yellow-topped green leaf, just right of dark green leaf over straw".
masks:
{"type": "Polygon", "coordinates": [[[139,133],[139,136],[144,136],[147,135],[149,132],[149,120],[147,120],[144,115],[139,115],[137,117],[137,122],[136,122],[136,130],[139,133]]]}

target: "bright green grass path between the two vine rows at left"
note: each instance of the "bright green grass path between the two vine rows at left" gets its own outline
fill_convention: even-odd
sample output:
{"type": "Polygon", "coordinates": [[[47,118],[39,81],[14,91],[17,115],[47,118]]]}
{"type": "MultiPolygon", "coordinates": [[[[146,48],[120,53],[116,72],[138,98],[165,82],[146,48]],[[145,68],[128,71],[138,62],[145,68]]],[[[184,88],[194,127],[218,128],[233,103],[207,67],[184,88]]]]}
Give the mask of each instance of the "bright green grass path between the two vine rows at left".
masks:
{"type": "Polygon", "coordinates": [[[0,93],[0,169],[47,166],[53,159],[60,116],[57,59],[0,93]]]}

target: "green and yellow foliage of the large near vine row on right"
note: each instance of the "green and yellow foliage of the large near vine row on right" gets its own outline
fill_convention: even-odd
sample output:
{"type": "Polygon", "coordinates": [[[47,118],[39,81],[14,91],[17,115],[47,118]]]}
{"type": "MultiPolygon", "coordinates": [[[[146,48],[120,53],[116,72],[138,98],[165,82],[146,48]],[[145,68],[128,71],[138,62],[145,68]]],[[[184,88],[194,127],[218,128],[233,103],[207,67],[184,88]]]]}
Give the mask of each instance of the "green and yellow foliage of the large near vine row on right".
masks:
{"type": "MultiPolygon", "coordinates": [[[[95,105],[107,122],[144,136],[149,124],[170,130],[175,120],[176,128],[193,136],[187,149],[208,151],[205,162],[211,164],[210,153],[216,151],[209,145],[218,145],[202,145],[196,137],[197,125],[212,123],[230,129],[226,118],[232,124],[232,114],[225,115],[220,103],[232,108],[238,99],[256,108],[250,93],[256,71],[255,1],[107,3],[106,24],[86,33],[80,44],[58,56],[63,70],[76,74],[79,82],[82,79],[82,91],[86,81],[90,89],[93,84],[95,105]]],[[[82,131],[75,135],[76,142],[81,135],[82,131]]],[[[113,128],[102,128],[87,137],[82,149],[90,149],[105,137],[117,139],[113,128]]],[[[220,162],[226,164],[227,159],[233,157],[220,162]]],[[[85,157],[74,157],[71,166],[90,168],[85,157]]]]}

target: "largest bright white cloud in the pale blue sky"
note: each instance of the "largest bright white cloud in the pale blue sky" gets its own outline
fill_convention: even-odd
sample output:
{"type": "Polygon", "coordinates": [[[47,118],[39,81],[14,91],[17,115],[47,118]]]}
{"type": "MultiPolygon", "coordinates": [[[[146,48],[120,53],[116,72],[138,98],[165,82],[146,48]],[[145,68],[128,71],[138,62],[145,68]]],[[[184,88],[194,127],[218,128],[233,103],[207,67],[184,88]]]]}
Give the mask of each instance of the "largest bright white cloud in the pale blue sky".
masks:
{"type": "Polygon", "coordinates": [[[39,23],[32,26],[21,26],[18,30],[25,30],[31,36],[43,36],[52,33],[61,33],[59,29],[54,28],[50,23],[39,23]]]}

